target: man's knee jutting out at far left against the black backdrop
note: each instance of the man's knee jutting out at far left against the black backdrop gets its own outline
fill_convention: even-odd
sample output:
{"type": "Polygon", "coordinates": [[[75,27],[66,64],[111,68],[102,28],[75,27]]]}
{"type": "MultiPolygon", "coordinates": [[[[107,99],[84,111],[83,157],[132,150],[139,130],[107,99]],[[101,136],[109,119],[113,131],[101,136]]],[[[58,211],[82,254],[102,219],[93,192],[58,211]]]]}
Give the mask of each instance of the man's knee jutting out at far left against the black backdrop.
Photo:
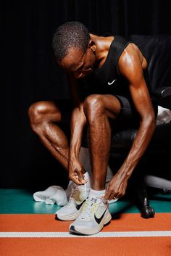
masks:
{"type": "Polygon", "coordinates": [[[38,132],[43,125],[51,121],[51,117],[54,115],[56,116],[55,121],[57,121],[60,118],[60,112],[50,102],[36,102],[30,105],[28,109],[30,126],[35,132],[38,132]]]}

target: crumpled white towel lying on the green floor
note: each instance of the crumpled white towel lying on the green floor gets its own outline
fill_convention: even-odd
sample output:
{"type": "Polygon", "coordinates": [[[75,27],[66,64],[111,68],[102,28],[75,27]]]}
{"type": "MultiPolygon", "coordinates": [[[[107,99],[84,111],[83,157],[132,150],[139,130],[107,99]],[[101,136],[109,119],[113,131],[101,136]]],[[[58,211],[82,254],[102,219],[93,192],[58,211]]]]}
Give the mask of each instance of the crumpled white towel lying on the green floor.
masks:
{"type": "Polygon", "coordinates": [[[45,202],[46,205],[67,205],[67,195],[61,186],[49,186],[46,190],[38,191],[33,194],[33,199],[36,202],[45,202]]]}

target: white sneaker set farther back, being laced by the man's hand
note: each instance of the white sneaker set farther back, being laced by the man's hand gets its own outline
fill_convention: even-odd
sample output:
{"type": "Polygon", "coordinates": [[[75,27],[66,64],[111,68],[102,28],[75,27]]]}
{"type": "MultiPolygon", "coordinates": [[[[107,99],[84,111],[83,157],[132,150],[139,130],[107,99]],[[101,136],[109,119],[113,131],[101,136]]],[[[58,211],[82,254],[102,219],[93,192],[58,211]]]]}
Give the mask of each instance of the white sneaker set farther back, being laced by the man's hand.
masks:
{"type": "Polygon", "coordinates": [[[86,185],[77,186],[72,184],[72,191],[67,205],[55,213],[56,220],[75,220],[80,215],[83,205],[86,202],[90,189],[86,185]]]}

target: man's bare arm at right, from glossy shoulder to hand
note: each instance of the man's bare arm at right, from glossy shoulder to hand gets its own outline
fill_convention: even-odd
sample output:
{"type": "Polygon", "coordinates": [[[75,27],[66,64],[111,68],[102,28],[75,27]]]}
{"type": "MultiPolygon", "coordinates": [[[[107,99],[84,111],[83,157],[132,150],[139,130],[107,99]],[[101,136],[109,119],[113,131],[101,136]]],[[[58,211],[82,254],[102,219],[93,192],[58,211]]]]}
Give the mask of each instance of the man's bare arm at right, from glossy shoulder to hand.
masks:
{"type": "Polygon", "coordinates": [[[126,50],[119,61],[120,73],[129,82],[130,94],[135,109],[140,116],[140,126],[136,133],[130,152],[123,162],[120,170],[109,182],[106,199],[122,197],[128,184],[128,178],[133,173],[135,166],[146,151],[155,129],[154,108],[151,104],[149,91],[143,77],[141,57],[133,46],[126,50]]]}

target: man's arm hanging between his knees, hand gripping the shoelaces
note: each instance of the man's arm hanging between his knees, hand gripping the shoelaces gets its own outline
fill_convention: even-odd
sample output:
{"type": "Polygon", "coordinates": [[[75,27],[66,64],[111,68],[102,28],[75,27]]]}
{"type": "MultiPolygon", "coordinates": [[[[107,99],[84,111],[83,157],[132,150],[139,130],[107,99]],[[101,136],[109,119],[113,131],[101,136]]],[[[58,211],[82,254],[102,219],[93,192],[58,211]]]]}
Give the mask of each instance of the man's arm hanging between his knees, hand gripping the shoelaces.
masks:
{"type": "Polygon", "coordinates": [[[86,124],[86,116],[83,112],[83,102],[78,94],[77,80],[70,77],[70,91],[72,94],[74,108],[71,118],[71,141],[70,141],[70,160],[69,160],[69,176],[76,184],[81,185],[86,183],[84,180],[83,169],[78,160],[80,146],[83,136],[83,128],[86,124]]]}

